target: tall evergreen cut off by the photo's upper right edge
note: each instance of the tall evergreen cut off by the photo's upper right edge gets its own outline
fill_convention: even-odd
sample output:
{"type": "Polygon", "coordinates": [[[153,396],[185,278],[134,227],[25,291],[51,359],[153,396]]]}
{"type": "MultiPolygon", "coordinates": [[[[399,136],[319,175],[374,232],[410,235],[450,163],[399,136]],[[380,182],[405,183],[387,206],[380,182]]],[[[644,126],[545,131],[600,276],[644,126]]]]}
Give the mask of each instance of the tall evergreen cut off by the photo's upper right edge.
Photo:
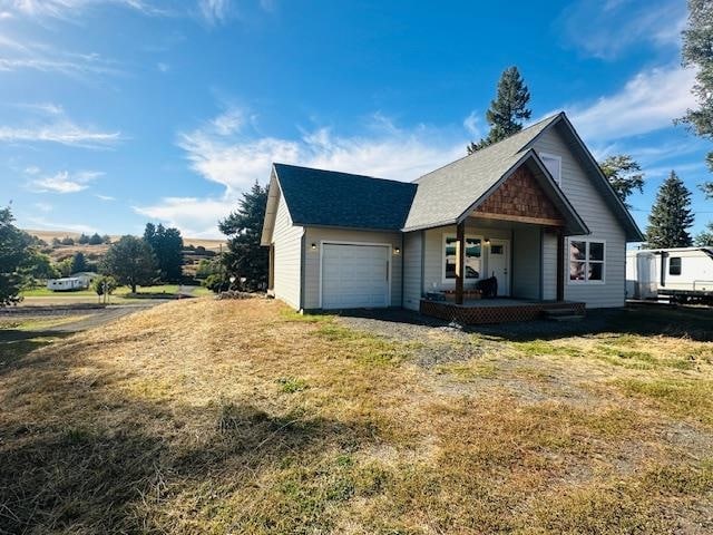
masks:
{"type": "MultiPolygon", "coordinates": [[[[682,56],[684,67],[697,69],[692,93],[699,107],[688,109],[678,121],[696,136],[713,140],[713,0],[688,0],[682,56]]],[[[707,154],[706,162],[713,171],[713,152],[707,154]]]]}

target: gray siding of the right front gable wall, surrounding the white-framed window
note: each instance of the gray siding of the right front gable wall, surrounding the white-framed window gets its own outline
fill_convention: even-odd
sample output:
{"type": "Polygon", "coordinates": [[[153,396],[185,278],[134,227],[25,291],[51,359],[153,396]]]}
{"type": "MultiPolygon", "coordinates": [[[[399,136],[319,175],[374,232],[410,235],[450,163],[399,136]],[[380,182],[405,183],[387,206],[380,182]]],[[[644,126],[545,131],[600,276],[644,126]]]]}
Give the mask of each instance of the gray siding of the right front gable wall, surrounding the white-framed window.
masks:
{"type": "MultiPolygon", "coordinates": [[[[582,165],[575,159],[569,147],[556,128],[550,128],[535,142],[538,152],[561,157],[561,188],[577,213],[592,232],[586,237],[606,242],[605,282],[569,283],[568,265],[565,265],[565,299],[584,301],[588,308],[623,307],[626,266],[626,240],[616,216],[595,189],[582,165]]],[[[576,240],[577,236],[572,236],[576,240]]],[[[567,249],[565,247],[565,256],[567,249]]],[[[565,259],[565,262],[567,260],[565,259]]]]}

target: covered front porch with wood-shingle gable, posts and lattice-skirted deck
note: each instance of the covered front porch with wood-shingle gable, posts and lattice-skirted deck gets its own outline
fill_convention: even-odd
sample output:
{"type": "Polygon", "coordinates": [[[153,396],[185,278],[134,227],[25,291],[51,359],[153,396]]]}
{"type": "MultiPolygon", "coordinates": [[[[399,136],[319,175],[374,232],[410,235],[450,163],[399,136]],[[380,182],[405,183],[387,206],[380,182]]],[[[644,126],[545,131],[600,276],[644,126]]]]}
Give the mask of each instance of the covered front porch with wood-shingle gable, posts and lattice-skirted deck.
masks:
{"type": "Polygon", "coordinates": [[[536,175],[524,165],[456,225],[424,231],[421,313],[466,324],[584,314],[565,302],[565,239],[585,228],[536,175]]]}

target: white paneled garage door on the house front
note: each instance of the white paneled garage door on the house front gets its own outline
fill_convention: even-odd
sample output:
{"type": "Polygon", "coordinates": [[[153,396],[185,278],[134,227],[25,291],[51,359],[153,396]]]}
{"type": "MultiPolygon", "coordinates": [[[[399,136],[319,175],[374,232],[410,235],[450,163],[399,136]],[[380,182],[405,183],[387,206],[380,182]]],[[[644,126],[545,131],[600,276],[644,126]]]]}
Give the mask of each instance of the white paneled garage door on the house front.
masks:
{"type": "Polygon", "coordinates": [[[389,260],[383,245],[324,244],[322,308],[388,307],[389,260]]]}

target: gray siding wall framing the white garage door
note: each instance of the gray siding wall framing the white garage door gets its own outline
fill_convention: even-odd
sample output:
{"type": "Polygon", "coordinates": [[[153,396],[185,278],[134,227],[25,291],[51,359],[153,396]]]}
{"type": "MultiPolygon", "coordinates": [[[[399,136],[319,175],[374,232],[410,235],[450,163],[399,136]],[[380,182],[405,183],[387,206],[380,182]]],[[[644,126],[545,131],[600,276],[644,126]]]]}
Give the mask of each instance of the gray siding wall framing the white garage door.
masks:
{"type": "MultiPolygon", "coordinates": [[[[304,295],[302,307],[305,310],[320,308],[320,266],[321,244],[323,241],[334,243],[372,243],[389,244],[393,249],[402,249],[400,232],[374,232],[309,226],[304,237],[304,295]],[[312,250],[312,244],[316,245],[312,250]]],[[[391,255],[391,307],[401,307],[401,260],[403,254],[391,255]]]]}

